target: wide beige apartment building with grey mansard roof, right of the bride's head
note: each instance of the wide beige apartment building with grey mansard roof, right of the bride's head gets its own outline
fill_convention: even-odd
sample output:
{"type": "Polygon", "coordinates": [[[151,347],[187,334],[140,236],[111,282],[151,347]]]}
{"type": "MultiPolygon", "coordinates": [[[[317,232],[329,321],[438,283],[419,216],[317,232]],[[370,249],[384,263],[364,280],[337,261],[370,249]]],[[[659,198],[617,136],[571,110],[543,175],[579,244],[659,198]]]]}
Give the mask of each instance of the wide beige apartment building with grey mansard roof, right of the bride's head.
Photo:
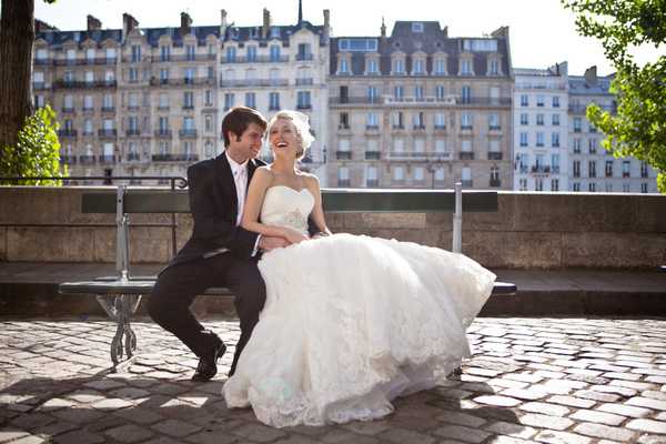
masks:
{"type": "Polygon", "coordinates": [[[437,21],[331,39],[329,183],[511,189],[508,29],[451,38],[437,21]]]}

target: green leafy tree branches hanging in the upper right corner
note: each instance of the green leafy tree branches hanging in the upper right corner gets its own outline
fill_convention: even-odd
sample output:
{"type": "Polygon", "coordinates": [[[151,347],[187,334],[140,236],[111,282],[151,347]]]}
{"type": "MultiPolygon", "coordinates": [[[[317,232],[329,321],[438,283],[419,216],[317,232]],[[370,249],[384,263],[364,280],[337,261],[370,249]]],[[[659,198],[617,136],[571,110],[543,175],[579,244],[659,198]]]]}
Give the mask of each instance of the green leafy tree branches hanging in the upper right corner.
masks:
{"type": "Polygon", "coordinates": [[[657,170],[657,186],[666,194],[666,56],[639,67],[632,50],[663,48],[666,0],[562,0],[576,13],[581,34],[602,41],[616,69],[610,92],[617,112],[592,104],[587,119],[607,138],[603,147],[616,157],[633,155],[657,170]]]}

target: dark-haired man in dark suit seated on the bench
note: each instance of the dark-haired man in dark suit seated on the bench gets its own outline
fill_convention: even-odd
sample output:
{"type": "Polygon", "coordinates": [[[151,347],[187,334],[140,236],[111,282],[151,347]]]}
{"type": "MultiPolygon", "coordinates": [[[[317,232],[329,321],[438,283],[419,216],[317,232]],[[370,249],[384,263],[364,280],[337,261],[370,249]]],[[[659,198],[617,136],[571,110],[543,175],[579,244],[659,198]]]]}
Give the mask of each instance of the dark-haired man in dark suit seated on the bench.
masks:
{"type": "Polygon", "coordinates": [[[259,236],[240,226],[248,184],[254,170],[264,164],[255,158],[265,130],[266,121],[258,111],[234,108],[222,120],[224,152],[188,169],[192,236],[160,273],[149,300],[150,316],[199,356],[192,381],[213,377],[226,350],[190,311],[194,297],[212,286],[226,286],[235,295],[241,337],[232,375],[266,297],[256,253],[286,245],[281,238],[259,236]]]}

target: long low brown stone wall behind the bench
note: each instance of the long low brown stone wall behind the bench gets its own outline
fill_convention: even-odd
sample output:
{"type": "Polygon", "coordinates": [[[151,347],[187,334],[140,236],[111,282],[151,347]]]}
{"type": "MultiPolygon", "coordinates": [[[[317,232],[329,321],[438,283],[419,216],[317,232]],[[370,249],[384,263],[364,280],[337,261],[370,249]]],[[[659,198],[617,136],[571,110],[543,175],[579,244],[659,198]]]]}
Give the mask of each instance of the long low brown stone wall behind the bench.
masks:
{"type": "MultiPolygon", "coordinates": [[[[0,186],[0,260],[113,262],[115,215],[81,213],[91,188],[0,186]],[[30,225],[30,226],[17,226],[30,225]]],[[[463,252],[485,266],[509,269],[652,268],[666,263],[666,196],[501,192],[496,213],[463,215],[463,252]]],[[[176,216],[178,245],[190,235],[176,216]]],[[[452,215],[329,214],[334,232],[395,238],[451,249],[452,215]]],[[[131,223],[168,224],[170,215],[138,214],[131,223]]],[[[130,232],[130,260],[167,262],[169,228],[130,232]]]]}

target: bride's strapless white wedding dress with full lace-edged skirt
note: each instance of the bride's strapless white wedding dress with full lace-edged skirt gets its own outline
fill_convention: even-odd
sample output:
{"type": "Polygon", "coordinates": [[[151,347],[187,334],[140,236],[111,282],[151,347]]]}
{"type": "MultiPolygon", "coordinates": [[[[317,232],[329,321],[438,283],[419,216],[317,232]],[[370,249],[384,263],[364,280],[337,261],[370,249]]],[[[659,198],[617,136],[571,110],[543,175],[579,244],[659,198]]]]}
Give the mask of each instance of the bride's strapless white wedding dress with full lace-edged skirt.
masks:
{"type": "MultiPolygon", "coordinates": [[[[313,205],[271,186],[261,220],[306,233],[313,205]]],[[[462,254],[351,234],[274,250],[259,269],[266,303],[223,393],[276,427],[380,418],[434,386],[468,356],[465,329],[495,280],[462,254]]]]}

